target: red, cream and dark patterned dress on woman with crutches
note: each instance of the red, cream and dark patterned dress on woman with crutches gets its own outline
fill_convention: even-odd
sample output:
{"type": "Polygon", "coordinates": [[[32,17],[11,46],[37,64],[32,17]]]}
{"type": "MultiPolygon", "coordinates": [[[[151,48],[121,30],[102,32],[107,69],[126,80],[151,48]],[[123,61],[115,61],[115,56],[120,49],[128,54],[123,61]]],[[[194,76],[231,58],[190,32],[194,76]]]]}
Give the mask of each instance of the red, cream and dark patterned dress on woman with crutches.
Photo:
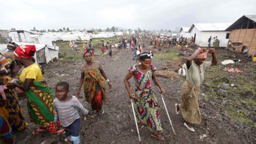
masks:
{"type": "Polygon", "coordinates": [[[163,129],[159,117],[160,106],[151,86],[151,77],[154,71],[156,71],[156,68],[152,65],[146,74],[139,70],[138,65],[133,65],[129,69],[129,73],[133,73],[135,81],[134,109],[138,121],[146,125],[150,132],[162,133],[163,129]]]}

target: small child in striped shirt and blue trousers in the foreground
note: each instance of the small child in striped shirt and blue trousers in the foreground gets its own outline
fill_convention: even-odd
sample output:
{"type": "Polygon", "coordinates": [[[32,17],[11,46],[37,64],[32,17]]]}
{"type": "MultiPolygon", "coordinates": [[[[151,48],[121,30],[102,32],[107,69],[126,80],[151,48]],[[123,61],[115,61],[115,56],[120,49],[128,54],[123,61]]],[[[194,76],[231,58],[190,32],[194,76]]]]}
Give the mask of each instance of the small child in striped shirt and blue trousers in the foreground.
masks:
{"type": "Polygon", "coordinates": [[[57,98],[53,100],[54,126],[57,127],[57,122],[60,121],[67,138],[74,144],[79,144],[81,143],[79,138],[80,119],[77,109],[82,112],[84,119],[89,111],[82,106],[75,96],[68,95],[68,92],[69,84],[67,82],[59,82],[56,85],[55,95],[57,98]]]}

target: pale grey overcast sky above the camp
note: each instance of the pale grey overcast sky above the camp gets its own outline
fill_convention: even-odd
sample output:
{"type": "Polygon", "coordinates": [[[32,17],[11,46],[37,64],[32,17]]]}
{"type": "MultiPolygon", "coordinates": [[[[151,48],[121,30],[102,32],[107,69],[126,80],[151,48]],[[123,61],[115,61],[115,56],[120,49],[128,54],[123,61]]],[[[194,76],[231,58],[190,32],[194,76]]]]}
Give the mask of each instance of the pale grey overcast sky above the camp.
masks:
{"type": "Polygon", "coordinates": [[[0,29],[175,29],[192,23],[235,22],[256,14],[255,0],[6,0],[0,29]]]}

